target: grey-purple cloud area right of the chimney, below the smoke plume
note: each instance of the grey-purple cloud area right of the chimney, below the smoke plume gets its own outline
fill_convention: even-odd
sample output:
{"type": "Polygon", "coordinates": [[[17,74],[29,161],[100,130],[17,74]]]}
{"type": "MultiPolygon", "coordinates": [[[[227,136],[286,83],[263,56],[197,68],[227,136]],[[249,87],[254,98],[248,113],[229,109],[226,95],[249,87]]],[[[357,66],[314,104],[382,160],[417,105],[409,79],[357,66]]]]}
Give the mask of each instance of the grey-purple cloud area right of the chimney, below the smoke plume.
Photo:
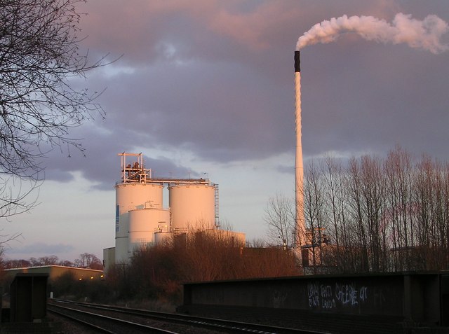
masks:
{"type": "Polygon", "coordinates": [[[302,57],[309,65],[302,71],[306,153],[385,153],[400,144],[448,158],[441,150],[449,120],[447,54],[363,42],[319,49],[326,55],[319,60],[311,48],[302,57]]]}

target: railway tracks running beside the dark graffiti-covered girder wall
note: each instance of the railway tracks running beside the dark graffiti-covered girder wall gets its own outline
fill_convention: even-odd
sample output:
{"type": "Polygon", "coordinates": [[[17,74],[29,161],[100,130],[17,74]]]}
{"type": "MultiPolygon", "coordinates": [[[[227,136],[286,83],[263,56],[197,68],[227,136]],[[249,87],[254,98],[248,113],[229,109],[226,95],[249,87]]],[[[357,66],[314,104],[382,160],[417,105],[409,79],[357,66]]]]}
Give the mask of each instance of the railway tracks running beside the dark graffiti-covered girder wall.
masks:
{"type": "Polygon", "coordinates": [[[67,314],[71,319],[93,324],[99,333],[260,333],[326,334],[312,330],[283,328],[185,314],[129,309],[85,302],[51,300],[49,312],[67,314]],[[168,325],[170,324],[170,325],[168,325]],[[166,328],[169,328],[166,329],[166,328]],[[207,332],[206,330],[209,330],[207,332]]]}

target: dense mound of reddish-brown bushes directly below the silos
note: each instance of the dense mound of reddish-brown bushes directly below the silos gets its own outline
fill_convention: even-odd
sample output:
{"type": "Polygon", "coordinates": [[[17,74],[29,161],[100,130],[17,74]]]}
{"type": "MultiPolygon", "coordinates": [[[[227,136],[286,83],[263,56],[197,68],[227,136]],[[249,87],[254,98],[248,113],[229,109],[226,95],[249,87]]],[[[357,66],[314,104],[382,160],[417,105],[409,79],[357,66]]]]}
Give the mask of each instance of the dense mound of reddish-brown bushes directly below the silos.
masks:
{"type": "Polygon", "coordinates": [[[293,252],[243,248],[223,235],[203,232],[135,251],[107,280],[118,298],[180,302],[182,283],[299,274],[293,252]]]}

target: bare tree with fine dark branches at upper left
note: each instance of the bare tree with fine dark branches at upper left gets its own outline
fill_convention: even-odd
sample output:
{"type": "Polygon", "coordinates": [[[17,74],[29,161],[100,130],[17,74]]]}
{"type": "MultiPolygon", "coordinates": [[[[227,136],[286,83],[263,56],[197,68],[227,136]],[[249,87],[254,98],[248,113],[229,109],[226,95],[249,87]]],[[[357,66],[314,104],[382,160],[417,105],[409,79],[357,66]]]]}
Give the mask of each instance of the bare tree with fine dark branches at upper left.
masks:
{"type": "Polygon", "coordinates": [[[83,151],[69,137],[72,127],[104,116],[98,92],[77,90],[72,78],[85,78],[102,66],[79,51],[82,0],[0,1],[0,215],[27,211],[30,191],[43,178],[41,158],[55,146],[83,151]],[[11,186],[9,179],[13,179],[11,186]],[[20,181],[29,187],[14,193],[20,181]]]}

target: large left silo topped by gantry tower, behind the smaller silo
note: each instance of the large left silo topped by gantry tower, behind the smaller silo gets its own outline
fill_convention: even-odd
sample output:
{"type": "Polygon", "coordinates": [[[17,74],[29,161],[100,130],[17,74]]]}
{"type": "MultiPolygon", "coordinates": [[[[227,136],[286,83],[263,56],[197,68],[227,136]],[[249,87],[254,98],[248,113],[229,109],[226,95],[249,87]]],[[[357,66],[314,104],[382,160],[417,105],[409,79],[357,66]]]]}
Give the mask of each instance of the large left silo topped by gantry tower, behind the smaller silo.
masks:
{"type": "Polygon", "coordinates": [[[162,209],[163,186],[158,183],[120,183],[116,185],[116,263],[128,261],[130,210],[162,209]]]}

